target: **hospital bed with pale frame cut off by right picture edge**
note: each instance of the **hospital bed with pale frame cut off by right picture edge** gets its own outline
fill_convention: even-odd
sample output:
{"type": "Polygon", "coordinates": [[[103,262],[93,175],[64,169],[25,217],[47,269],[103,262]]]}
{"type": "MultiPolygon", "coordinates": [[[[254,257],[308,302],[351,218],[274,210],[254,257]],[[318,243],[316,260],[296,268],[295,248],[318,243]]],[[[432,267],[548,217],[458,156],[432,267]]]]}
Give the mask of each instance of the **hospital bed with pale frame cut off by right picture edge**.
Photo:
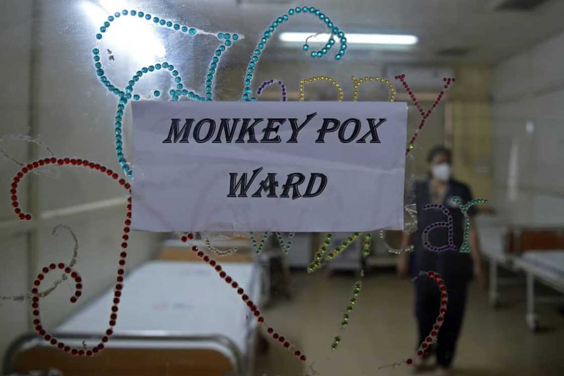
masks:
{"type": "Polygon", "coordinates": [[[535,296],[535,279],[564,294],[564,249],[528,251],[515,259],[515,266],[527,276],[527,312],[525,319],[531,330],[539,327],[539,317],[535,313],[535,302],[564,302],[553,296],[535,296]]]}

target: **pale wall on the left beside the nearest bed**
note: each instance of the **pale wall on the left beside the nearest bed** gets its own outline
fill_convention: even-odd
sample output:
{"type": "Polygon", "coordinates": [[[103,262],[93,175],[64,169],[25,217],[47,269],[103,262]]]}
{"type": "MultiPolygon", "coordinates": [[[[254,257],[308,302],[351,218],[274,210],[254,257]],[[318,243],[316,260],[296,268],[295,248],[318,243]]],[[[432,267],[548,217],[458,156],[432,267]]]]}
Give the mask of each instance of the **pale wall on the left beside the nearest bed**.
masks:
{"type": "MultiPolygon", "coordinates": [[[[0,148],[20,161],[50,156],[45,148],[11,141],[10,136],[30,135],[38,137],[58,157],[86,158],[120,171],[112,137],[116,97],[106,94],[95,82],[92,56],[83,53],[94,43],[84,43],[82,33],[78,33],[81,24],[56,21],[59,7],[33,4],[8,1],[0,13],[0,69],[10,72],[3,76],[0,90],[0,148]],[[37,12],[53,22],[37,22],[37,12]],[[65,31],[61,26],[65,23],[76,29],[65,31]],[[33,46],[32,33],[36,34],[33,46]]],[[[93,35],[91,30],[89,34],[93,35]]],[[[43,176],[29,174],[20,183],[17,195],[20,207],[34,219],[19,221],[7,196],[19,167],[7,158],[0,162],[0,186],[4,187],[0,199],[0,296],[26,294],[43,266],[69,263],[72,237],[65,230],[52,236],[56,225],[68,224],[78,238],[75,268],[84,281],[83,295],[71,304],[74,286],[63,283],[41,300],[42,322],[53,329],[115,283],[125,192],[111,178],[86,168],[55,168],[43,176]],[[30,181],[33,184],[28,184],[30,181]],[[58,209],[76,209],[84,204],[90,208],[74,215],[57,215],[58,209]],[[50,218],[45,218],[45,213],[50,218]]],[[[161,234],[135,233],[129,242],[126,270],[150,259],[161,238],[161,234]]],[[[60,273],[50,273],[42,287],[50,287],[57,278],[60,273]]],[[[0,357],[17,336],[33,331],[29,308],[28,302],[0,300],[0,357]]]]}

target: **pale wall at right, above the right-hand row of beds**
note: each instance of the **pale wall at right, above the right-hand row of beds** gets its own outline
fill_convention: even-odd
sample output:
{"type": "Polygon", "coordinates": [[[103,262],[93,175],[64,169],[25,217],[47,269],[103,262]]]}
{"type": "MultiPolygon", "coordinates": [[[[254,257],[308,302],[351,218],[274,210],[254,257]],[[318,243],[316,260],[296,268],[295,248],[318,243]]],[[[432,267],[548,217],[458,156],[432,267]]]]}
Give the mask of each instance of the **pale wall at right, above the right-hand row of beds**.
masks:
{"type": "Polygon", "coordinates": [[[493,205],[516,224],[564,222],[564,33],[492,71],[493,205]]]}

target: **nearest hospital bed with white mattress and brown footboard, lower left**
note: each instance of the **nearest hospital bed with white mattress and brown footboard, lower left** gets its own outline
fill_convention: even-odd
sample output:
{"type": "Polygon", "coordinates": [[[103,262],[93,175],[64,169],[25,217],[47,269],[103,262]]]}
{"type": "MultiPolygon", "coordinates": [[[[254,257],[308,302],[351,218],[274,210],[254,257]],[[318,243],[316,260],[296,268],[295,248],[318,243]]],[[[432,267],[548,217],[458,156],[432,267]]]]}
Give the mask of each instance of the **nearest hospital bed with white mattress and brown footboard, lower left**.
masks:
{"type": "MultiPolygon", "coordinates": [[[[260,304],[261,276],[255,263],[222,262],[249,298],[260,304]]],[[[58,369],[65,376],[250,375],[257,321],[240,297],[201,260],[153,260],[133,270],[114,335],[92,358],[70,356],[37,336],[12,344],[3,371],[58,369]]],[[[105,292],[56,327],[65,343],[96,344],[107,329],[113,290],[105,292]]]]}

